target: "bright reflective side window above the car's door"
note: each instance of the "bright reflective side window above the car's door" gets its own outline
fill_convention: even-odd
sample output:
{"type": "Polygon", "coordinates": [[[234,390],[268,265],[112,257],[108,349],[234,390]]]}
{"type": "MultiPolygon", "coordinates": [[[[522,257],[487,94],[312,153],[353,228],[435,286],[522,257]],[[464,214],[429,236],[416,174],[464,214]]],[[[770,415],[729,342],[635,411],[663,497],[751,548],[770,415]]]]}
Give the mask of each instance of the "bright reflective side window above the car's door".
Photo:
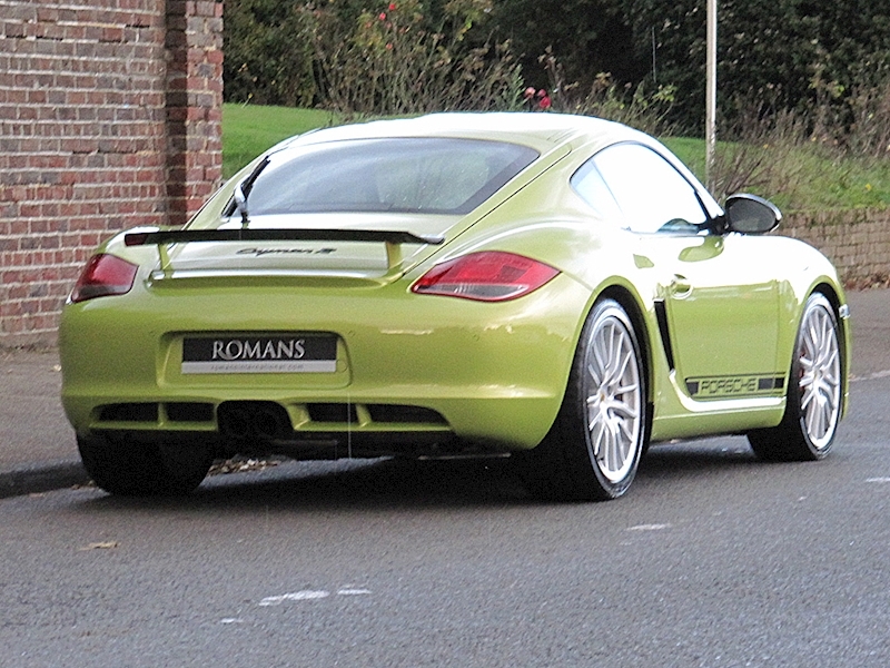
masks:
{"type": "Polygon", "coordinates": [[[692,185],[651,148],[616,144],[596,154],[593,163],[629,229],[695,234],[708,220],[692,185]]]}

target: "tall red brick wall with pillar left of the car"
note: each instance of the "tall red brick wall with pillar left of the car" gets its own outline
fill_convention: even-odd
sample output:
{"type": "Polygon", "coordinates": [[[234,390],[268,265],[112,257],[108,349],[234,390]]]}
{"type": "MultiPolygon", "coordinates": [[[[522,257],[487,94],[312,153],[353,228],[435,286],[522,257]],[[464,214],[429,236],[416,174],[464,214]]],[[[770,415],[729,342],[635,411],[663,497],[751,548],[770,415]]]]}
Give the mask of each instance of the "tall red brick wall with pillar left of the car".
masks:
{"type": "Polygon", "coordinates": [[[219,183],[222,4],[0,0],[0,346],[55,341],[91,249],[219,183]]]}

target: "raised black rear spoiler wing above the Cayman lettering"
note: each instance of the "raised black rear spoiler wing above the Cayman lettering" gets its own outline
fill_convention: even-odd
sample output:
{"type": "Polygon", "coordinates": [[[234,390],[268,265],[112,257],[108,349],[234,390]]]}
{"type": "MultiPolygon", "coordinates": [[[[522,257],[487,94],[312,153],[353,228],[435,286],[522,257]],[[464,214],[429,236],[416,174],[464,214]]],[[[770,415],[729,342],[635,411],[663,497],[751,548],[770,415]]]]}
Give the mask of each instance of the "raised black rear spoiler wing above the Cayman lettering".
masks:
{"type": "MultiPolygon", "coordinates": [[[[392,269],[402,262],[403,244],[438,246],[444,237],[384,229],[159,229],[123,235],[127,246],[162,246],[198,242],[368,242],[386,244],[386,264],[392,269]]],[[[161,253],[164,261],[165,253],[161,253]]],[[[167,264],[162,262],[161,264],[167,264]]]]}

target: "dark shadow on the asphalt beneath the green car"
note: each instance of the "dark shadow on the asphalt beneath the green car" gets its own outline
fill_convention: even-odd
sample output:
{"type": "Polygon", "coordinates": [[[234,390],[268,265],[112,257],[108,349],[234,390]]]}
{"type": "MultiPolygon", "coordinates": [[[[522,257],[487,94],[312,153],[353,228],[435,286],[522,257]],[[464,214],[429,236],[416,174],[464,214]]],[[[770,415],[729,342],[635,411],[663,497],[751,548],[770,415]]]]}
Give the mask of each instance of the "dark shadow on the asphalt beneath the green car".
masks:
{"type": "MultiPolygon", "coordinates": [[[[708,440],[653,446],[627,495],[690,478],[746,475],[760,464],[744,441],[708,440]]],[[[626,502],[624,500],[620,502],[626,502]]],[[[247,511],[551,505],[532,498],[508,459],[284,461],[258,471],[210,475],[178,498],[91,497],[96,509],[247,511]]]]}

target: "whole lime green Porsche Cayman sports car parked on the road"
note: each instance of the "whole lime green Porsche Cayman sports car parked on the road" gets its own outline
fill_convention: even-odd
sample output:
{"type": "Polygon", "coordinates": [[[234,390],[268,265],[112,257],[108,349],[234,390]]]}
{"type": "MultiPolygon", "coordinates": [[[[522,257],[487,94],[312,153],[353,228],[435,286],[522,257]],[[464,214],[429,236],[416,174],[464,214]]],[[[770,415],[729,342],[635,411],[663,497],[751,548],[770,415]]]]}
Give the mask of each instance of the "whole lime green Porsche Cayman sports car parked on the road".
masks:
{"type": "Polygon", "coordinates": [[[185,228],[105,243],[66,305],[62,402],[117,494],[216,458],[511,453],[530,491],[622,495],[650,442],[819,460],[849,308],[779,210],[721,208],[647,135],[557,114],[308,132],[185,228]]]}

